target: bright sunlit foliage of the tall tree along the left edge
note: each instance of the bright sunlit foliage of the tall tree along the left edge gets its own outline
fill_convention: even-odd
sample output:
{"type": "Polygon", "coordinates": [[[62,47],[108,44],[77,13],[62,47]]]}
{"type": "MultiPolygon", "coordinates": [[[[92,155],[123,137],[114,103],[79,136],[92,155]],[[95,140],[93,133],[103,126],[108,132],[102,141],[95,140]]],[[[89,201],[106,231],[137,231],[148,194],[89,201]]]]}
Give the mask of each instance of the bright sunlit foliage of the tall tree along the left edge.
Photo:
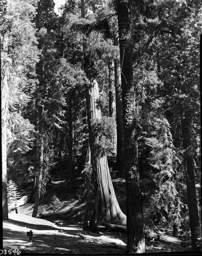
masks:
{"type": "MultiPolygon", "coordinates": [[[[7,162],[10,170],[18,165],[34,142],[34,126],[27,116],[27,108],[36,84],[36,62],[39,51],[35,36],[34,1],[9,2],[1,19],[2,76],[7,74],[7,162]]],[[[4,85],[5,86],[5,85],[4,85]]],[[[25,161],[27,162],[27,161],[25,161]]]]}

